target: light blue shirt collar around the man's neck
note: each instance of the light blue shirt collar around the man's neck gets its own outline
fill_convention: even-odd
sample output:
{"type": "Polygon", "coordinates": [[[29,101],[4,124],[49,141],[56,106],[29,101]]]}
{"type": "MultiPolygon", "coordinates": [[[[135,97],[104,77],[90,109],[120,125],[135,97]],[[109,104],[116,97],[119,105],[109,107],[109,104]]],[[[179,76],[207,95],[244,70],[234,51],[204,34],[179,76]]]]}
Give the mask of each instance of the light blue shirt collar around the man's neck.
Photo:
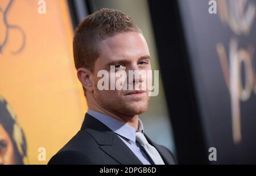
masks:
{"type": "Polygon", "coordinates": [[[136,141],[136,132],[144,133],[144,128],[141,119],[139,119],[139,127],[138,130],[135,130],[134,127],[119,121],[118,119],[109,117],[108,115],[98,113],[97,111],[88,109],[87,113],[92,117],[96,118],[98,121],[104,123],[104,125],[108,126],[110,130],[114,131],[116,134],[123,136],[126,139],[131,141],[136,141]]]}

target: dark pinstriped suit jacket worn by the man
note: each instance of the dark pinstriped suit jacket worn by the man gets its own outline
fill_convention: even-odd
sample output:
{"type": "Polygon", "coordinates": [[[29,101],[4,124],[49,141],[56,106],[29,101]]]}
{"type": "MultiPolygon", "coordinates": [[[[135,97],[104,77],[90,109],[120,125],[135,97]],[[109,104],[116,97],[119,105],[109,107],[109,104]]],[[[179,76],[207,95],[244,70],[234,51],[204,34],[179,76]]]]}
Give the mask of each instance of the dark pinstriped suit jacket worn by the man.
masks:
{"type": "MultiPolygon", "coordinates": [[[[172,153],[166,147],[154,143],[147,136],[146,139],[158,150],[165,164],[175,164],[172,153]]],[[[81,130],[48,164],[142,165],[142,162],[117,134],[86,113],[81,130]]]]}

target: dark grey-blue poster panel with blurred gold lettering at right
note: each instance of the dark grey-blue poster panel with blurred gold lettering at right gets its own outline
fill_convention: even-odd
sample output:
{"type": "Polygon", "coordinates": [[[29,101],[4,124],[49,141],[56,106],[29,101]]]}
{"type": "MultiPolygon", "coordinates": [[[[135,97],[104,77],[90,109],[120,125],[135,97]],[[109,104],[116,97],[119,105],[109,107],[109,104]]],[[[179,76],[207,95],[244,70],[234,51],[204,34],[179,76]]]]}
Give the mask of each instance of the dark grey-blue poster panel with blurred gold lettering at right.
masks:
{"type": "Polygon", "coordinates": [[[178,2],[210,163],[255,164],[256,1],[178,2]]]}

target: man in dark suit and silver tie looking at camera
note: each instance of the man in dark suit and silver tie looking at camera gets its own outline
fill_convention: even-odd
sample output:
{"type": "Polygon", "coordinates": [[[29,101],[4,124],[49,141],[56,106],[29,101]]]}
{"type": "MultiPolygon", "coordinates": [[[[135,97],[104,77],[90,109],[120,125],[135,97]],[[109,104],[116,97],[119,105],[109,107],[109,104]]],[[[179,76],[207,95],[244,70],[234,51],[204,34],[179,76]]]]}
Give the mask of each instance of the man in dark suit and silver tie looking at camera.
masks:
{"type": "Polygon", "coordinates": [[[110,66],[114,72],[151,71],[147,42],[130,17],[106,8],[89,15],[75,31],[73,54],[88,112],[81,130],[48,164],[175,164],[167,148],[148,139],[138,118],[150,99],[150,89],[142,89],[142,83],[151,82],[151,76],[129,79],[139,89],[99,88],[98,73],[111,75],[110,66]]]}

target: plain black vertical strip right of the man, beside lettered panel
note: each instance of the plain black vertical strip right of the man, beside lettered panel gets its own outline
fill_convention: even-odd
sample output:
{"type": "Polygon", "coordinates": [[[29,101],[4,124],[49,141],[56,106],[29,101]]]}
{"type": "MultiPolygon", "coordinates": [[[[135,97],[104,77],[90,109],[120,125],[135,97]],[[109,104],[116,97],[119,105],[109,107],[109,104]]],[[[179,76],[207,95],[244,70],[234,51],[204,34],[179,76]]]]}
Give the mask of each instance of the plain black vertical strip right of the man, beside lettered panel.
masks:
{"type": "Polygon", "coordinates": [[[148,1],[179,164],[208,164],[177,1],[148,1]]]}

